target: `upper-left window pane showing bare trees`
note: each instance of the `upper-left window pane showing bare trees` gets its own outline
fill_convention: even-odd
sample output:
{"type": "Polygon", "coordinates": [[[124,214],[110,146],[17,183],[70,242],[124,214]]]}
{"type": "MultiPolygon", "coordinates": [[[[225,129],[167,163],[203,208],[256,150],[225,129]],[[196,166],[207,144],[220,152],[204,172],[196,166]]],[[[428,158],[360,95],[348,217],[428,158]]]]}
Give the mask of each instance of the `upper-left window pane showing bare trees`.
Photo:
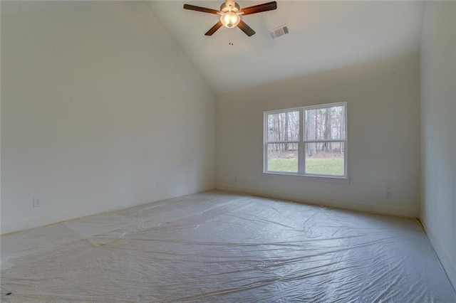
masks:
{"type": "Polygon", "coordinates": [[[267,115],[268,142],[299,140],[299,111],[267,115]]]}

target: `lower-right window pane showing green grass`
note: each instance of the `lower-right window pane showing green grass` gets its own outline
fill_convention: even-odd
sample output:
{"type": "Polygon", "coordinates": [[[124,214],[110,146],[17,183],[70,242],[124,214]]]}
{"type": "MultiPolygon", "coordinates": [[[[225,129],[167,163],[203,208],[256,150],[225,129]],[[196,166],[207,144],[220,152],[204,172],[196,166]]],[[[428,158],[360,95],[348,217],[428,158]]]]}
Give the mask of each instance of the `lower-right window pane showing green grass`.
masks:
{"type": "Polygon", "coordinates": [[[343,142],[306,143],[306,174],[344,175],[343,142]]]}

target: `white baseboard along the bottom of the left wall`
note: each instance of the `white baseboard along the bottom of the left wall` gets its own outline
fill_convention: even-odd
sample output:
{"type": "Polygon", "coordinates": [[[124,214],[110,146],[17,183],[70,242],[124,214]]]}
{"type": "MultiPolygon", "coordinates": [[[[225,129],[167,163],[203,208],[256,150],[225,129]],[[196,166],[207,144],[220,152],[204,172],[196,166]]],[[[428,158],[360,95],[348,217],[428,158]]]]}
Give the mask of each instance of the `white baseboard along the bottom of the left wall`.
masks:
{"type": "Polygon", "coordinates": [[[71,209],[61,213],[51,213],[46,216],[41,216],[33,220],[33,222],[29,219],[25,220],[15,220],[14,222],[4,223],[1,222],[1,235],[5,235],[7,233],[16,233],[21,230],[27,230],[30,228],[36,228],[43,225],[51,225],[56,223],[61,223],[68,220],[73,220],[76,218],[81,218],[85,216],[92,216],[98,213],[106,213],[108,211],[119,211],[121,209],[133,207],[133,206],[140,206],[147,203],[153,203],[157,201],[167,200],[171,198],[177,198],[180,196],[187,196],[192,193],[199,193],[201,191],[208,191],[214,189],[214,186],[202,186],[198,188],[191,188],[185,190],[177,190],[177,191],[167,191],[162,193],[157,193],[152,196],[143,197],[143,198],[136,198],[133,201],[118,201],[116,203],[100,203],[93,206],[85,207],[85,208],[78,208],[78,209],[71,209]]]}

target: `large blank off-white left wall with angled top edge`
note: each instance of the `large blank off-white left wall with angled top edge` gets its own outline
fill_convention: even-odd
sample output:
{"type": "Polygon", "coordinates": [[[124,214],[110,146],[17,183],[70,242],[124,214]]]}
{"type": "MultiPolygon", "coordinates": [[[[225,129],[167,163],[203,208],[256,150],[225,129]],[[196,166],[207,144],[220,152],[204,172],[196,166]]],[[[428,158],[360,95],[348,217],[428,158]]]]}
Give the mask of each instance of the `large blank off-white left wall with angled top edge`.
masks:
{"type": "Polygon", "coordinates": [[[144,2],[2,15],[1,63],[2,233],[214,188],[214,95],[144,2]]]}

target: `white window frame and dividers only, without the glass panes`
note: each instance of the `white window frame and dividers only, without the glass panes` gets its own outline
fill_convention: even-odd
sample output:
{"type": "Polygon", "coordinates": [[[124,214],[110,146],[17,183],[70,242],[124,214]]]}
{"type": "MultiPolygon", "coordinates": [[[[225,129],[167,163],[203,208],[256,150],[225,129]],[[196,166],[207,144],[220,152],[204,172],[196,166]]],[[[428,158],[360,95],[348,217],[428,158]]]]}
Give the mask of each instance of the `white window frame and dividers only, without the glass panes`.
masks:
{"type": "Polygon", "coordinates": [[[291,176],[311,176],[311,177],[323,177],[323,178],[330,178],[330,179],[348,179],[347,173],[347,159],[348,159],[348,129],[347,129],[347,102],[336,102],[336,103],[328,103],[323,105],[312,105],[306,107],[294,107],[294,108],[286,108],[283,110],[270,110],[264,112],[263,117],[263,129],[264,129],[264,137],[263,137],[263,173],[264,174],[277,174],[277,175],[291,175],[291,176]],[[345,107],[344,110],[344,122],[345,122],[345,139],[318,139],[318,140],[306,140],[305,139],[305,129],[304,125],[306,124],[304,119],[305,115],[304,112],[306,110],[316,110],[319,108],[327,108],[327,107],[337,107],[343,106],[345,107]],[[298,112],[299,111],[299,141],[268,141],[268,115],[271,114],[279,114],[284,112],[298,112]],[[306,143],[315,143],[315,142],[341,142],[344,146],[344,153],[343,153],[343,175],[332,175],[332,174],[306,174],[306,161],[305,161],[305,149],[306,143]],[[280,144],[280,143],[294,143],[298,144],[298,172],[291,172],[291,171],[269,171],[268,170],[268,144],[280,144]]]}

